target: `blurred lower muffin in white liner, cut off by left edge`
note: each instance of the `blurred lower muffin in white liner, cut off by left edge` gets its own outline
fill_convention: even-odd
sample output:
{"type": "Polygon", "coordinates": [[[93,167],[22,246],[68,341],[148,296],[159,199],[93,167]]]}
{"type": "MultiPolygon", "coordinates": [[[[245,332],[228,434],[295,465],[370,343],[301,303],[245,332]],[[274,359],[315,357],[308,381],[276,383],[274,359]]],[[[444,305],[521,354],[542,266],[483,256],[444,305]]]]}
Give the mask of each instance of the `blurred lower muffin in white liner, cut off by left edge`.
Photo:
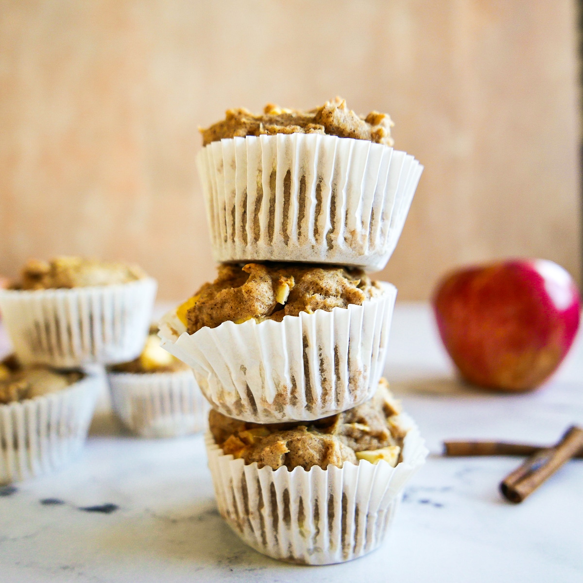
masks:
{"type": "Polygon", "coordinates": [[[0,363],[0,484],[56,469],[83,447],[103,376],[0,363]]]}

